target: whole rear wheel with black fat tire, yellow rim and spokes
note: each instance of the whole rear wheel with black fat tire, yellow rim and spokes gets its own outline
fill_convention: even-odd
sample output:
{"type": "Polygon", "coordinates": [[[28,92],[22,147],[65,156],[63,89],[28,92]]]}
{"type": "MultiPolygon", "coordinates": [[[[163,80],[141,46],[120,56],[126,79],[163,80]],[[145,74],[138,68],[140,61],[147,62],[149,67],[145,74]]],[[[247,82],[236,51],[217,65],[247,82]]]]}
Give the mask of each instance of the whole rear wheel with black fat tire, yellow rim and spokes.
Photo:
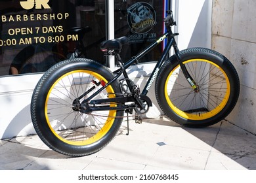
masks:
{"type": "MultiPolygon", "coordinates": [[[[111,71],[90,59],[75,58],[57,63],[39,80],[32,95],[31,116],[40,139],[49,148],[67,156],[98,152],[115,137],[122,122],[122,110],[81,113],[74,99],[89,88],[89,97],[112,78],[111,71]]],[[[119,85],[113,82],[93,99],[116,97],[119,85]]],[[[81,101],[83,99],[80,99],[81,101]]],[[[114,107],[117,104],[110,104],[114,107]]]]}

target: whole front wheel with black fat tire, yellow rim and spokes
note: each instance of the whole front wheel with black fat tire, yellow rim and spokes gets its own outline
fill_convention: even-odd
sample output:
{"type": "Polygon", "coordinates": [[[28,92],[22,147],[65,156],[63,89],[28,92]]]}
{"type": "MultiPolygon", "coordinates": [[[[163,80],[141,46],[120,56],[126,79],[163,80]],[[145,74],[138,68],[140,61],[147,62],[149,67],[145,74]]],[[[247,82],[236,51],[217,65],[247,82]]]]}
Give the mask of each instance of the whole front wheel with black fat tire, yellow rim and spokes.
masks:
{"type": "Polygon", "coordinates": [[[176,56],[171,56],[156,78],[156,99],[161,110],[187,127],[220,122],[238,101],[240,81],[236,69],[222,54],[207,48],[188,48],[180,54],[199,92],[188,84],[176,56]]]}

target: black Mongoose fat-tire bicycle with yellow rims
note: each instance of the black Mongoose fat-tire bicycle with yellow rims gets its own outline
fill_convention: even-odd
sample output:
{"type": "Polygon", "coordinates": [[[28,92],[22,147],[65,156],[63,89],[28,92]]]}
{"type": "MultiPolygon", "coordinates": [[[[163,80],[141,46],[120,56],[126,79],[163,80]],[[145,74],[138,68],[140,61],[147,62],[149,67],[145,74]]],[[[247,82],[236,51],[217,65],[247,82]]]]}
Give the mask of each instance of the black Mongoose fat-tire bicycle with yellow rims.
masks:
{"type": "Polygon", "coordinates": [[[207,48],[179,51],[175,42],[179,33],[171,31],[176,25],[171,11],[163,21],[167,31],[126,63],[119,53],[129,42],[127,37],[100,44],[104,54],[116,56],[119,68],[113,73],[91,59],[74,58],[57,63],[42,76],[33,92],[31,115],[47,146],[68,156],[98,152],[115,137],[125,113],[141,122],[141,115],[152,107],[147,93],[154,80],[161,110],[178,124],[206,127],[232,111],[240,93],[232,63],[207,48]],[[126,69],[165,39],[161,58],[140,92],[126,69]],[[175,54],[169,57],[171,47],[175,54]]]}

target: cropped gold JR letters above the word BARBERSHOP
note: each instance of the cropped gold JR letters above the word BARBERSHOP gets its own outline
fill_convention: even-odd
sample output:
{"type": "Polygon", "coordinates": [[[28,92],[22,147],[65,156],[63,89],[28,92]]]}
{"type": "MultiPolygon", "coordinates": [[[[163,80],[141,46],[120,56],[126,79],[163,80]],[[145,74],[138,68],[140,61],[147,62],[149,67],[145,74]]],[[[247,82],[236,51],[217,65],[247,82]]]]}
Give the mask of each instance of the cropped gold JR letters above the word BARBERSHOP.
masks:
{"type": "Polygon", "coordinates": [[[20,1],[20,5],[25,10],[31,10],[33,7],[35,9],[51,9],[51,7],[48,5],[49,0],[26,0],[26,1],[20,1]]]}

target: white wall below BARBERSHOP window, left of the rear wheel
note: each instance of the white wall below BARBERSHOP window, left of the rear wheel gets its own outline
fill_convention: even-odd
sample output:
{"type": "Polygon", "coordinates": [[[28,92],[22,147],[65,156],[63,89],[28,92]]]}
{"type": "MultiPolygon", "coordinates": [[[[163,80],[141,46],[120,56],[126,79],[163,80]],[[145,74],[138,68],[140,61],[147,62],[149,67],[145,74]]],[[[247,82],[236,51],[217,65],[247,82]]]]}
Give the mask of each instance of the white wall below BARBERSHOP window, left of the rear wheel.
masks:
{"type": "Polygon", "coordinates": [[[30,101],[40,77],[24,75],[0,78],[0,139],[34,133],[30,101]]]}

